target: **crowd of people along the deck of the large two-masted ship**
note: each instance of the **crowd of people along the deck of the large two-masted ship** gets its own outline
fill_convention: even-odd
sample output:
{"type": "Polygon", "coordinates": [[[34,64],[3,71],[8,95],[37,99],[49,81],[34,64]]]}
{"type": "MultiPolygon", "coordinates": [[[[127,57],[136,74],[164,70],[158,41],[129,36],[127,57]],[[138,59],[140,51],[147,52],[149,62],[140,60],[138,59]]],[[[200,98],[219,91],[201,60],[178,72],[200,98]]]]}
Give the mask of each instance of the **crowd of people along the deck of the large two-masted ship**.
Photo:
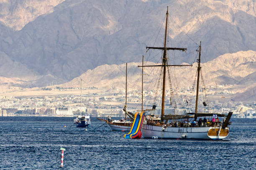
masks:
{"type": "Polygon", "coordinates": [[[209,120],[204,118],[200,118],[198,119],[198,121],[192,120],[192,122],[189,122],[188,119],[184,119],[182,121],[171,121],[171,122],[167,122],[164,124],[160,124],[160,121],[154,121],[154,120],[149,120],[148,124],[150,125],[157,125],[157,126],[163,126],[165,127],[209,127],[209,126],[214,126],[214,127],[220,127],[223,123],[225,122],[225,119],[223,119],[223,122],[219,121],[219,118],[217,117],[215,119],[215,117],[212,118],[212,120],[209,120]]]}

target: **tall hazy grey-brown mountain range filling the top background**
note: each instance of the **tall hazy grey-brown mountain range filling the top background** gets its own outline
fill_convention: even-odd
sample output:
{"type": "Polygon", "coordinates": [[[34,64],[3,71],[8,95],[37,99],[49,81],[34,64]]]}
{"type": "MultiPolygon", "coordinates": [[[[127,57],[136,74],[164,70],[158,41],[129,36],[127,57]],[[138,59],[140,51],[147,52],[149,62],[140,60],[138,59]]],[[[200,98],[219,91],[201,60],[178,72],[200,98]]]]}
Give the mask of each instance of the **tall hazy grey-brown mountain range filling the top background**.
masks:
{"type": "MultiPolygon", "coordinates": [[[[64,83],[104,64],[141,61],[146,46],[162,46],[166,6],[169,46],[188,47],[176,63],[193,63],[200,40],[206,61],[256,51],[254,0],[2,0],[0,6],[0,76],[30,86],[64,83]]],[[[242,81],[228,75],[220,79],[242,81]]]]}

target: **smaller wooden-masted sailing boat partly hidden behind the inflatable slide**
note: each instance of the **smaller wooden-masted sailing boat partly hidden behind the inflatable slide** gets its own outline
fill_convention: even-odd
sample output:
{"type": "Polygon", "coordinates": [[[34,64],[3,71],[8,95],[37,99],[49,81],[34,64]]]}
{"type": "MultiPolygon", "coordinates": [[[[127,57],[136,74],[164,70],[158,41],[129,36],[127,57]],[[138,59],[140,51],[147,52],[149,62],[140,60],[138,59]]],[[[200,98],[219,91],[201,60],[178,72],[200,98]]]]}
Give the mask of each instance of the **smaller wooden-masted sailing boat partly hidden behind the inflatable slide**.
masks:
{"type": "Polygon", "coordinates": [[[133,120],[134,120],[134,114],[127,111],[127,63],[126,63],[126,78],[125,78],[125,106],[123,108],[123,111],[125,112],[125,119],[111,120],[110,116],[108,117],[108,119],[101,119],[101,118],[97,118],[97,119],[105,121],[109,125],[110,129],[114,131],[131,130],[133,120]],[[127,119],[127,116],[130,119],[129,121],[127,119]]]}

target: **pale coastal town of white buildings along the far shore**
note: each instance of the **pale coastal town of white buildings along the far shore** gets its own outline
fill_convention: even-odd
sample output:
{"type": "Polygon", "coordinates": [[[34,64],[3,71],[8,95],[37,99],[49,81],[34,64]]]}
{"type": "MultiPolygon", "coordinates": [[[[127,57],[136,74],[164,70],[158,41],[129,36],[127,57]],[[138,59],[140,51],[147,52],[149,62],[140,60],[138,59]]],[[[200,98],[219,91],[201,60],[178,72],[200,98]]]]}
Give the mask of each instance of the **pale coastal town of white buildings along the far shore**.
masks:
{"type": "MultiPolygon", "coordinates": [[[[95,93],[96,87],[84,88],[83,94],[63,94],[63,95],[40,95],[40,96],[4,96],[0,94],[0,116],[37,116],[37,117],[75,117],[80,114],[87,114],[91,117],[124,117],[123,107],[125,105],[125,90],[115,89],[112,92],[95,93]]],[[[79,88],[41,88],[43,91],[72,91],[79,88]]],[[[190,89],[179,90],[175,96],[176,108],[175,114],[184,114],[193,112],[195,101],[188,102],[190,89]],[[179,99],[180,98],[180,99],[179,99]]],[[[127,91],[127,106],[130,112],[136,112],[141,109],[141,91],[129,89],[127,91]]],[[[144,109],[152,108],[152,97],[154,91],[143,91],[144,109]],[[151,101],[148,102],[148,101],[151,101]]],[[[243,103],[242,101],[225,101],[225,94],[230,91],[213,91],[208,94],[209,104],[204,107],[202,104],[204,97],[201,97],[199,103],[200,112],[225,113],[233,112],[234,118],[256,118],[256,101],[252,103],[243,103]],[[218,96],[216,98],[216,96],[218,96]],[[212,100],[213,99],[213,100],[212,100]]],[[[200,95],[203,95],[202,93],[200,95]]],[[[167,98],[170,99],[170,92],[167,92],[167,98]]],[[[174,107],[170,101],[165,109],[166,114],[174,112],[174,107]]],[[[160,96],[155,99],[156,109],[152,114],[161,114],[160,96]]]]}

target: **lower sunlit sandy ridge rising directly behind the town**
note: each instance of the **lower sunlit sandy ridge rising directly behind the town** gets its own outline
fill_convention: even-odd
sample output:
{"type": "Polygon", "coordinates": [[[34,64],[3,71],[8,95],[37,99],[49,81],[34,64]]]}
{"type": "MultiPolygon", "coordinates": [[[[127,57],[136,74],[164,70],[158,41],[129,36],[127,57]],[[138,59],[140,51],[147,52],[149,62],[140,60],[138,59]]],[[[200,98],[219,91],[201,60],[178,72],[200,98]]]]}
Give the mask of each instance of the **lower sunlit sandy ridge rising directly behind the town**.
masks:
{"type": "MultiPolygon", "coordinates": [[[[144,65],[154,64],[156,63],[144,63],[144,65]]],[[[138,68],[139,65],[141,63],[128,63],[128,89],[141,89],[141,69],[138,68]]],[[[193,63],[192,67],[176,67],[169,70],[173,87],[192,87],[196,70],[197,63],[193,63]]],[[[156,89],[158,79],[156,74],[159,73],[159,69],[145,67],[143,71],[145,74],[143,78],[144,89],[156,89]]],[[[254,95],[256,92],[256,51],[224,54],[212,61],[202,63],[202,75],[207,87],[225,86],[225,90],[233,91],[233,97],[237,101],[240,101],[239,97],[244,100],[256,100],[254,95]]],[[[95,86],[105,90],[125,89],[125,63],[98,66],[60,86],[80,87],[81,79],[83,80],[83,87],[95,86]]]]}

